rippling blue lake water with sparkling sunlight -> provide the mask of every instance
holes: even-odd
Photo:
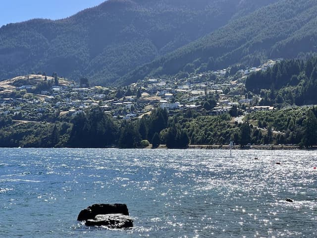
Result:
[[[0,149],[0,237],[316,238],[316,158],[315,151]],[[126,203],[134,228],[77,222],[94,203]]]

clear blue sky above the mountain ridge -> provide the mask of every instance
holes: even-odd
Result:
[[[0,27],[33,18],[60,19],[105,0],[0,0]]]

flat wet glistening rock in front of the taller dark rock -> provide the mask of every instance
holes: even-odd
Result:
[[[130,216],[122,214],[97,215],[94,219],[88,219],[86,226],[106,226],[111,229],[122,229],[133,227],[133,221]]]

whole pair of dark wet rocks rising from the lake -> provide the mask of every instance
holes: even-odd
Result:
[[[77,220],[85,221],[86,226],[115,229],[133,227],[133,220],[125,204],[94,204],[82,210]]]

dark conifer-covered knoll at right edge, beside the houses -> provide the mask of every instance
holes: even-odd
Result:
[[[248,76],[247,90],[260,94],[262,105],[317,104],[317,57],[304,60],[283,60],[266,71]]]

